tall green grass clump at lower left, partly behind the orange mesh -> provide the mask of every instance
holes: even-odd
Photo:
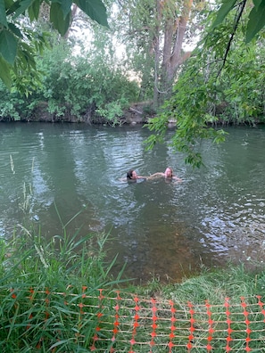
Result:
[[[94,298],[91,304],[99,288],[107,292],[118,285],[119,278],[113,281],[110,275],[115,260],[104,262],[106,238],[90,234],[80,239],[78,232],[69,236],[64,226],[62,235],[46,241],[19,226],[12,239],[1,241],[1,351],[48,352],[52,346],[87,351],[95,318],[92,312],[83,318],[71,306],[86,304],[85,291]]]

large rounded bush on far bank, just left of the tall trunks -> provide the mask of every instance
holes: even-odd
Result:
[[[53,53],[46,53],[45,60],[40,61],[46,78],[39,99],[54,103],[57,111],[62,107],[64,113],[67,110],[87,121],[95,119],[96,111],[106,111],[104,116],[112,123],[120,110],[137,98],[137,84],[104,57],[92,52],[85,57],[65,56],[66,50],[60,46],[54,47]]]

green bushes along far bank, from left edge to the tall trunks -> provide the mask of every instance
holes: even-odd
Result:
[[[74,56],[65,41],[54,38],[51,50],[37,59],[37,70],[43,77],[27,98],[17,92],[0,89],[2,119],[39,119],[37,107],[43,107],[54,120],[122,122],[121,115],[138,96],[136,82],[128,79],[119,66],[96,52]],[[12,109],[11,105],[12,104]]]

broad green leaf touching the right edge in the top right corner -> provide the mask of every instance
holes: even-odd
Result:
[[[254,6],[249,14],[247,22],[245,43],[249,43],[253,37],[265,26],[265,0],[259,6]]]

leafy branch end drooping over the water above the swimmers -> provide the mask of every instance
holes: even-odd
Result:
[[[175,150],[184,152],[186,163],[194,167],[200,167],[202,164],[202,156],[198,152],[200,139],[211,138],[220,143],[225,137],[223,130],[208,127],[210,122],[216,120],[207,110],[214,83],[205,82],[203,75],[198,74],[197,70],[198,66],[193,60],[178,78],[173,96],[162,107],[161,115],[150,121],[148,127],[155,134],[146,140],[148,148],[153,148],[153,144],[163,141],[169,121],[175,121],[177,128],[171,145]]]

